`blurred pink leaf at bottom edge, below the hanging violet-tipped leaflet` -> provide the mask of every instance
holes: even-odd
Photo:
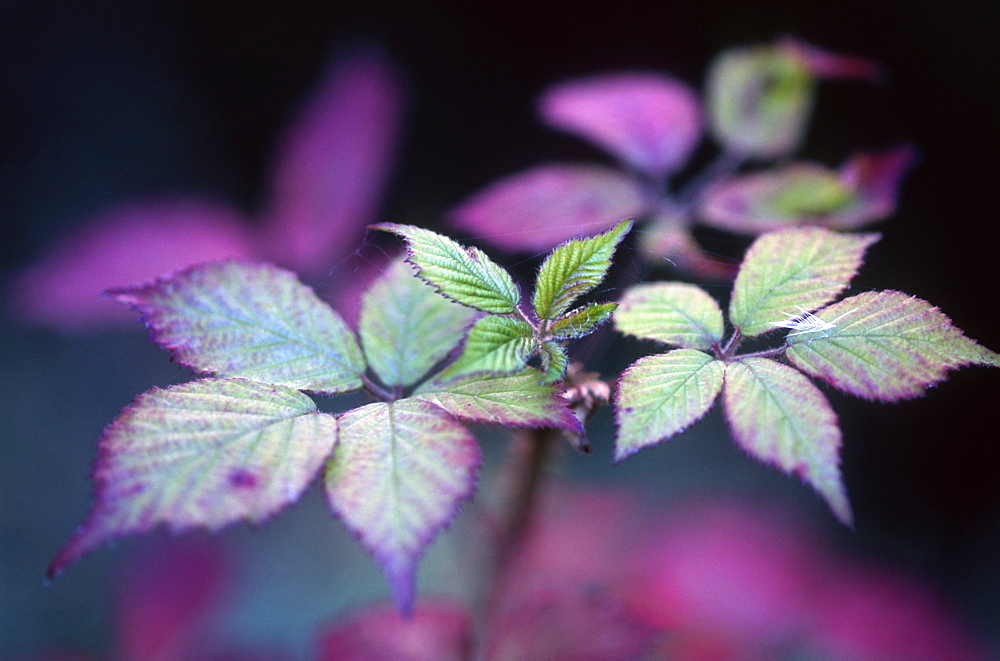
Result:
[[[472,623],[465,609],[441,599],[410,616],[375,606],[339,621],[319,642],[320,661],[463,661],[470,658]]]

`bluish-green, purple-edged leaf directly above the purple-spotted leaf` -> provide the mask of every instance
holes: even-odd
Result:
[[[213,262],[110,293],[199,372],[327,394],[361,387],[365,361],[354,334],[284,269]]]

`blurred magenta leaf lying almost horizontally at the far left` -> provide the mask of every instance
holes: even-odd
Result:
[[[147,282],[198,262],[246,258],[246,222],[219,203],[167,199],[102,212],[11,284],[14,314],[70,331],[121,326],[134,317],[101,292]]]

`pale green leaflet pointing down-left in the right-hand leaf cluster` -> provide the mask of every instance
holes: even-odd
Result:
[[[694,349],[646,356],[622,373],[615,391],[615,461],[697,422],[722,390],[725,363]]]

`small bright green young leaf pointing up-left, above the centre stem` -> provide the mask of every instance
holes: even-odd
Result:
[[[413,225],[379,223],[372,228],[406,239],[409,261],[420,270],[420,277],[463,305],[510,314],[521,301],[510,274],[478,248],[465,248],[446,236]]]

